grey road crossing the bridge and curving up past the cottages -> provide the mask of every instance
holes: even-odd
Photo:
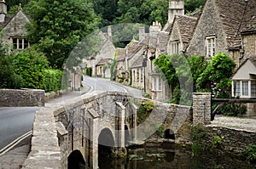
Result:
[[[141,96],[141,91],[135,88],[126,87],[119,83],[110,82],[107,79],[92,78],[84,76],[84,83],[87,86],[82,91],[74,91],[63,94],[61,98],[52,99],[47,104],[55,104],[78,97],[92,91],[118,91]],[[36,110],[40,107],[4,107],[0,108],[0,149],[13,142],[26,132],[32,130],[32,123]]]

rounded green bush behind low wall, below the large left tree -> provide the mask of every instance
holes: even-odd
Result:
[[[22,87],[44,89],[44,69],[48,62],[44,54],[30,48],[15,55],[15,73],[22,78]]]

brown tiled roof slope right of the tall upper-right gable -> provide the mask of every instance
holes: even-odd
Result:
[[[228,48],[241,46],[240,31],[255,30],[255,0],[215,0]]]

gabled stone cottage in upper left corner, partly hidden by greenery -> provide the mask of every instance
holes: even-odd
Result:
[[[30,44],[26,39],[26,24],[31,23],[29,17],[19,10],[14,15],[7,14],[7,4],[0,0],[0,27],[3,33],[3,42],[16,49],[24,49]]]

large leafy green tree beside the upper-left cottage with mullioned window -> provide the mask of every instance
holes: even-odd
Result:
[[[27,11],[32,19],[27,37],[54,68],[62,68],[77,43],[99,23],[91,3],[85,0],[32,0]]]

